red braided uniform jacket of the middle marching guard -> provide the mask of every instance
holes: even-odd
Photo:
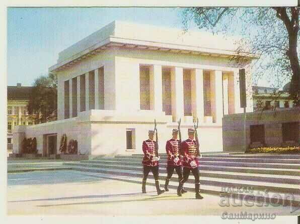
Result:
[[[170,139],[166,144],[166,152],[168,155],[168,165],[181,166],[182,160],[180,156],[180,141],[176,139]],[[179,161],[175,163],[174,159],[178,157]]]

